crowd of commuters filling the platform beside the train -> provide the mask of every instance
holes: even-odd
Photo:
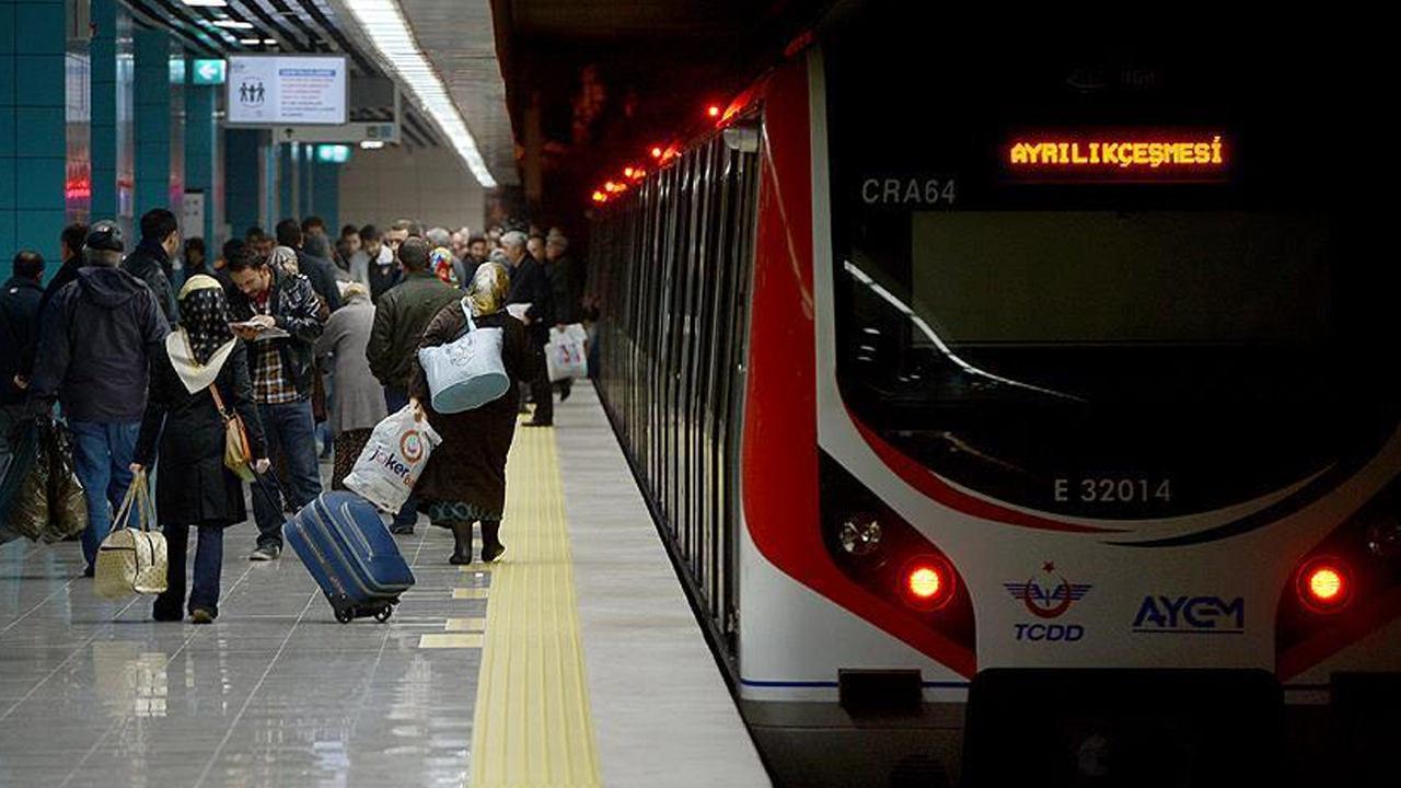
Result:
[[[552,327],[579,317],[579,276],[558,229],[472,233],[405,219],[382,231],[347,224],[332,240],[310,216],[272,234],[249,229],[210,257],[156,209],[134,247],[116,223],[97,222],[66,227],[57,248],[48,285],[42,254],[25,250],[0,292],[0,467],[25,419],[63,419],[87,498],[85,576],[133,478],[151,474],[170,550],[153,614],[213,621],[224,530],[248,519],[245,481],[255,487],[249,559],[276,561],[286,512],[322,492],[318,460],[332,460],[342,487],[373,428],[405,407],[443,443],[392,516],[394,533],[413,533],[425,513],[453,531],[450,561],[469,564],[481,523],[481,559],[504,552],[506,454],[527,400],[534,414],[520,423],[553,423],[544,348]],[[417,351],[461,337],[468,315],[503,330],[516,386],[481,408],[437,414]],[[224,464],[235,416],[251,481]]]

